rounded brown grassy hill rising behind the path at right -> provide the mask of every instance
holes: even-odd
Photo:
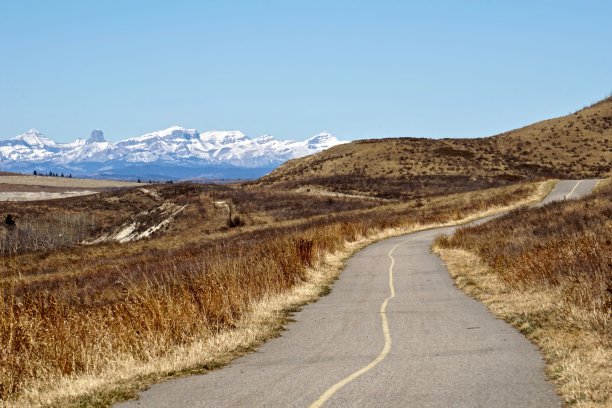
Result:
[[[611,162],[612,97],[493,137],[356,141],[291,160],[260,183],[399,198],[521,179],[602,177]]]

